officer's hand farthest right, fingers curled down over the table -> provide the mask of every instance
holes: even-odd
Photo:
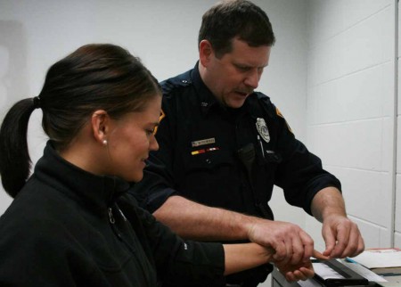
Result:
[[[329,258],[354,257],[364,250],[364,239],[358,226],[348,217],[331,214],[323,220],[324,256]]]

